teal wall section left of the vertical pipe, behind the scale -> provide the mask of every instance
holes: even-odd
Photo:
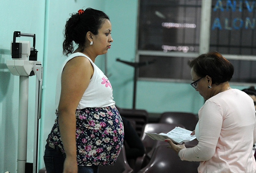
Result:
[[[18,137],[19,76],[7,69],[6,60],[11,59],[10,45],[14,31],[36,34],[38,60],[43,59],[44,49],[44,1],[22,2],[2,0],[0,2],[0,172],[16,172]],[[24,37],[26,38],[26,37]],[[17,38],[17,40],[22,40]],[[32,41],[30,38],[25,40]],[[28,115],[28,161],[33,160],[35,76],[29,79]]]

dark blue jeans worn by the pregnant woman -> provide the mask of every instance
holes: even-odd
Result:
[[[45,145],[44,165],[47,173],[62,173],[64,160],[65,157],[58,146],[51,148],[48,144]],[[98,173],[98,168],[96,165],[78,166],[78,173]]]

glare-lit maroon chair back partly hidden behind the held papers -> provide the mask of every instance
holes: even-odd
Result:
[[[165,124],[165,123],[148,123],[145,124],[144,128],[143,128],[143,134],[141,134],[141,140],[144,144],[144,147],[146,149],[146,153],[148,153],[149,151],[151,151],[151,149],[155,146],[156,144],[156,140],[152,139],[151,137],[149,137],[147,134],[145,134],[145,132],[147,133],[168,133],[169,131],[171,131],[172,129],[174,129],[175,127],[182,127],[184,128],[184,126],[182,124]]]

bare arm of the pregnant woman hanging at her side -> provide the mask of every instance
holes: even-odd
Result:
[[[75,111],[93,75],[93,66],[83,57],[66,63],[61,77],[58,107],[59,129],[66,154],[63,172],[77,172]]]

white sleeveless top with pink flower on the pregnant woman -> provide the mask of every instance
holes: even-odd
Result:
[[[104,73],[92,62],[92,60],[84,55],[83,53],[73,53],[71,54],[62,64],[61,69],[58,73],[57,83],[56,83],[56,95],[55,95],[55,108],[58,110],[60,92],[61,92],[61,75],[66,63],[76,57],[84,56],[91,62],[94,72],[90,83],[85,90],[79,104],[76,109],[84,109],[86,107],[107,107],[115,104],[113,100],[112,86],[108,78]],[[74,74],[75,75],[75,74]],[[82,81],[81,81],[82,82]]]

